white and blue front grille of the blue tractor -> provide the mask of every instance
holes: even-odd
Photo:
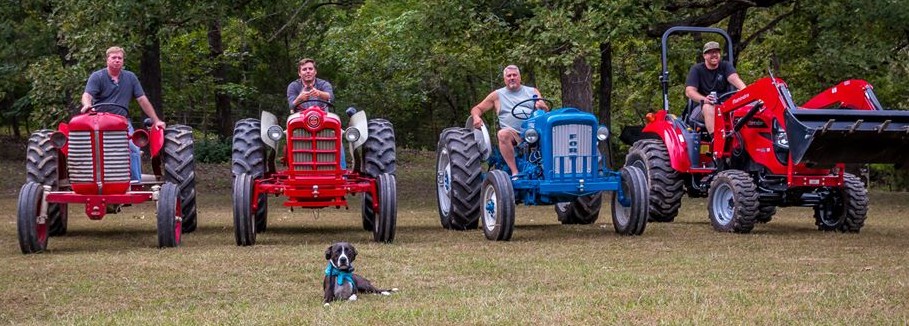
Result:
[[[593,127],[567,124],[552,127],[552,169],[554,177],[589,177],[596,169]]]

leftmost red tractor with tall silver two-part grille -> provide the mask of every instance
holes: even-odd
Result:
[[[95,107],[105,105],[122,107]],[[69,204],[85,204],[88,218],[101,220],[121,205],[155,201],[159,247],[176,247],[183,233],[196,229],[192,129],[174,125],[130,135],[128,126],[121,115],[91,111],[29,136],[17,213],[22,253],[44,251],[50,236],[66,234]],[[147,146],[154,176],[130,182],[130,142]]]

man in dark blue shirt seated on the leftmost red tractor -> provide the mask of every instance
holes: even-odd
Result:
[[[106,53],[107,68],[93,72],[85,84],[85,92],[82,93],[81,112],[88,112],[97,103],[116,103],[123,107],[100,105],[95,110],[122,115],[129,122],[129,112],[125,108],[129,107],[129,102],[135,98],[145,115],[151,118],[152,126],[156,129],[164,129],[166,124],[158,119],[158,115],[155,114],[155,108],[148,100],[148,97],[145,96],[145,91],[142,90],[142,85],[139,84],[136,74],[123,69],[123,49],[112,46],[107,49]],[[130,135],[133,134],[133,130],[133,124],[129,122]],[[130,142],[130,179],[133,181],[142,180],[142,163],[139,159],[139,147]]]

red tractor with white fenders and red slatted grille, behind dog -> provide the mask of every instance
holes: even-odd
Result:
[[[310,100],[304,103],[329,102]],[[395,135],[388,120],[366,119],[366,112],[347,109],[350,126],[341,131],[338,115],[319,105],[297,107],[287,129],[262,112],[262,119],[243,119],[234,128],[234,235],[238,246],[256,243],[268,226],[268,194],[285,196],[284,206],[347,207],[348,195],[363,193],[363,229],[377,242],[392,242],[397,219]],[[343,137],[342,137],[343,135]],[[278,141],[286,138],[286,144]],[[353,167],[346,168],[344,146]],[[282,146],[279,146],[282,145]],[[278,170],[275,153],[282,150]]]

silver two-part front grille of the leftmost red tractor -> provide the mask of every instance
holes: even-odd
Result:
[[[69,133],[69,179],[72,183],[129,181],[129,138],[126,131],[98,132],[101,143],[92,142],[91,131]],[[101,155],[96,159],[94,153]],[[96,171],[100,163],[104,171]],[[103,172],[103,173],[102,173]]]

